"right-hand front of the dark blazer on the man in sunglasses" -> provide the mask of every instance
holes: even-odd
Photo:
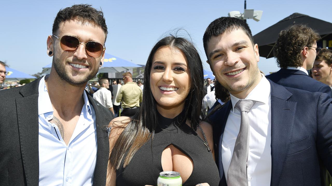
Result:
[[[96,132],[97,132],[97,160],[96,167],[93,176],[93,185],[105,185],[106,184],[106,172],[107,172],[107,163],[110,153],[110,146],[108,140],[107,126],[109,122],[113,119],[113,115],[110,114],[110,117],[107,118],[103,112],[103,107],[93,100],[93,98],[87,93],[89,103],[92,104],[93,109],[96,114]]]

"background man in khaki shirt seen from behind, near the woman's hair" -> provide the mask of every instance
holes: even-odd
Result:
[[[122,74],[124,85],[120,88],[119,94],[116,98],[117,102],[121,101],[123,111],[121,116],[133,116],[138,111],[139,103],[142,102],[142,89],[132,82],[132,75],[130,72]]]

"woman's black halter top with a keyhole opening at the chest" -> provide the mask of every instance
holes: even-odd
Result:
[[[193,160],[194,168],[183,186],[195,186],[208,183],[219,184],[218,168],[205,141],[185,123],[183,113],[173,119],[158,113],[158,126],[153,140],[147,141],[135,153],[130,163],[123,168],[123,162],[117,172],[117,186],[157,185],[159,173],[163,171],[161,155],[163,150],[173,144]],[[180,121],[180,122],[179,122]],[[182,122],[181,122],[182,121]]]

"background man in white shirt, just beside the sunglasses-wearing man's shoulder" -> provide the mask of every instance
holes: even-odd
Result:
[[[102,104],[105,108],[109,109],[113,115],[113,104],[112,104],[112,93],[108,89],[110,88],[110,83],[108,78],[102,77],[99,79],[100,88],[93,94],[93,99]]]

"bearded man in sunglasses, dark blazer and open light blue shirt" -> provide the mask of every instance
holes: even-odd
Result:
[[[107,33],[91,5],[60,10],[47,37],[50,74],[0,91],[0,185],[105,186],[113,114],[84,88]]]

